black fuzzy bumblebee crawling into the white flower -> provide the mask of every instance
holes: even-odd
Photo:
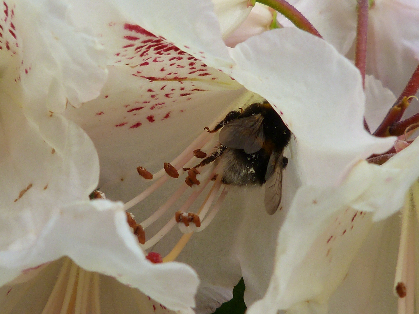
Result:
[[[288,163],[284,149],[291,131],[272,106],[253,103],[230,111],[210,133],[221,129],[215,152],[196,167],[221,163],[221,182],[229,185],[265,185],[265,208],[274,214],[281,203],[282,170]]]

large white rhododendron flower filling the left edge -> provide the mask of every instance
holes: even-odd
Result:
[[[103,46],[70,18],[69,7],[60,1],[3,3],[0,281],[24,280],[32,269],[67,255],[171,309],[190,309],[198,284],[194,270],[150,263],[122,203],[89,201],[98,183],[97,152],[62,113],[96,98],[108,70]],[[3,290],[2,308],[13,310],[19,293]],[[54,297],[62,294],[52,295],[52,303]]]

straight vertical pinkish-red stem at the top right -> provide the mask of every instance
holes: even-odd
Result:
[[[357,43],[355,66],[360,70],[365,88],[365,63],[367,61],[368,0],[358,0]]]

